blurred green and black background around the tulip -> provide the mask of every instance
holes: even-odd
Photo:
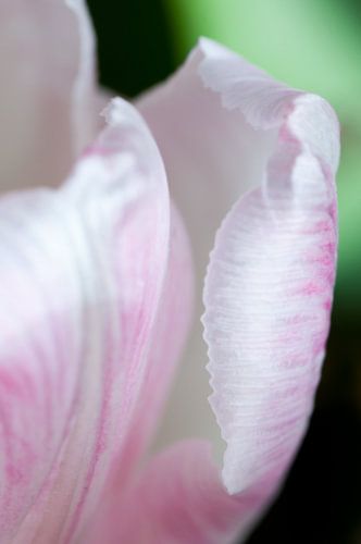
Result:
[[[307,440],[249,544],[361,544],[361,3],[359,0],[88,0],[100,79],[133,97],[199,35],[321,94],[341,122],[339,265],[328,355]]]

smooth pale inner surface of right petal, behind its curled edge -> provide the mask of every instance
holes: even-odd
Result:
[[[215,232],[237,198],[260,183],[276,145],[276,113],[262,116],[257,109],[257,104],[261,104],[262,111],[266,107],[264,97],[269,100],[270,82],[275,99],[279,99],[277,112],[282,116],[287,99],[291,100],[296,91],[270,81],[236,54],[202,39],[169,82],[140,97],[137,103],[161,149],[171,195],[191,239],[197,271],[197,317],[203,312],[201,293]],[[264,131],[260,129],[262,123]],[[215,443],[219,430],[207,400],[211,390],[206,364],[202,327],[197,319],[159,447],[189,435],[211,437]],[[223,443],[217,440],[219,458],[222,450]]]

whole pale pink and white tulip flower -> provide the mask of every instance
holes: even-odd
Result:
[[[320,379],[337,119],[208,39],[99,118],[80,0],[3,0],[0,24],[1,543],[245,539]],[[206,345],[220,431],[147,457]]]

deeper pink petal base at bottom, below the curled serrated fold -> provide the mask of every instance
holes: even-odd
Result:
[[[117,503],[117,517],[101,533],[107,544],[221,544],[238,542],[262,494],[229,496],[206,442],[163,452]],[[112,531],[112,532],[111,532]],[[91,544],[100,542],[86,540]]]

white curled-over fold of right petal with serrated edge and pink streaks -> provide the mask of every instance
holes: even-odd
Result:
[[[337,246],[333,165],[323,169],[329,154],[322,139],[312,145],[312,125],[335,135],[332,115],[320,127],[324,108],[318,98],[297,98],[263,184],[228,213],[210,259],[204,338],[231,493],[278,482],[313,407]]]

